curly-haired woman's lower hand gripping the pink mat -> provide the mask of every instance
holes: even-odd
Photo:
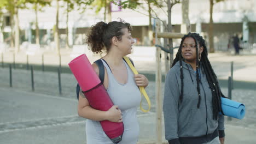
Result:
[[[113,105],[108,111],[106,111],[106,114],[107,120],[110,122],[123,122],[122,112],[120,109],[118,109],[117,105]]]

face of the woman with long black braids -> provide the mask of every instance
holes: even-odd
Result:
[[[197,44],[197,47],[200,45]],[[198,48],[198,53],[202,53],[203,47]],[[191,37],[184,39],[182,44],[182,57],[185,59],[185,62],[196,62],[196,43],[195,40]]]

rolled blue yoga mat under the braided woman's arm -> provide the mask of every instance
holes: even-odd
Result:
[[[245,105],[227,98],[222,99],[222,110],[225,116],[242,119],[245,117]]]

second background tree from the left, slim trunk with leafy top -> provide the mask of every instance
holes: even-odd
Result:
[[[43,11],[46,5],[50,5],[51,0],[27,0],[27,2],[33,4],[36,14],[36,44],[39,44],[38,11]]]

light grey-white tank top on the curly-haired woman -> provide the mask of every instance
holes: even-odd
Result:
[[[141,93],[136,86],[134,74],[123,60],[127,69],[127,82],[119,83],[115,79],[106,62],[102,60],[108,73],[108,89],[110,99],[114,105],[118,105],[123,114],[124,134],[120,144],[135,144],[138,140],[139,125],[136,116],[137,107],[141,101]],[[88,119],[86,121],[87,144],[112,144],[101,128],[100,122]]]

